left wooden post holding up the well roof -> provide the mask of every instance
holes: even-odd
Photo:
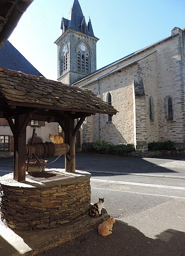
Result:
[[[14,121],[14,180],[26,180],[26,127],[28,114],[15,115]]]

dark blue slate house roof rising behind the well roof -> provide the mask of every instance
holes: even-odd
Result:
[[[42,76],[9,41],[6,41],[5,45],[0,49],[0,68],[20,71],[34,76]]]

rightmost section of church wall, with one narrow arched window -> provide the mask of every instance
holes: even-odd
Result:
[[[158,85],[159,141],[170,139],[185,143],[184,131],[184,66],[182,65],[184,41],[180,35],[157,47],[156,67]],[[167,99],[172,98],[173,120],[167,117]]]

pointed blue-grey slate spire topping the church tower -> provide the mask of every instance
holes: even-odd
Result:
[[[85,31],[83,33],[95,36],[92,30],[92,25],[89,19],[88,25],[86,25],[85,17],[83,15],[82,9],[78,0],[74,0],[73,6],[70,10],[68,18],[62,18],[61,29],[64,32],[66,29],[71,28],[76,31],[82,32],[82,26],[84,26]]]

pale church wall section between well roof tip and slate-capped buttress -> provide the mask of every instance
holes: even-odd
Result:
[[[95,142],[105,140],[113,144],[119,143],[134,143],[134,121],[133,121],[133,77],[137,78],[137,65],[132,65],[132,68],[123,69],[122,72],[117,72],[102,78],[98,82],[93,82],[86,86],[89,90],[99,95],[107,101],[108,92],[111,94],[112,105],[119,111],[112,117],[112,121],[108,121],[108,115],[95,115],[87,117],[91,119],[92,125],[86,127],[86,137],[93,134]],[[100,125],[100,126],[99,126]],[[91,137],[92,138],[92,137]]]

